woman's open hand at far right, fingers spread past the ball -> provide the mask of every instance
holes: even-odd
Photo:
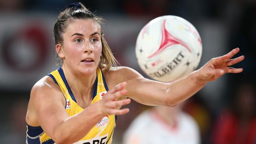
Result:
[[[238,52],[239,52],[239,48],[235,48],[226,55],[212,58],[210,61],[208,61],[208,63],[206,63],[199,70],[197,70],[196,76],[199,79],[199,81],[202,81],[202,82],[214,81],[226,73],[242,72],[243,68],[228,67],[236,63],[239,63],[240,61],[243,61],[243,59],[245,59],[245,56],[243,55],[235,59],[231,59]]]

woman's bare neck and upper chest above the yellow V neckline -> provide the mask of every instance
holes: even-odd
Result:
[[[83,100],[86,102],[87,100],[90,100],[96,79],[96,71],[91,75],[84,76],[72,72],[72,70],[64,65],[62,69],[76,101]]]

